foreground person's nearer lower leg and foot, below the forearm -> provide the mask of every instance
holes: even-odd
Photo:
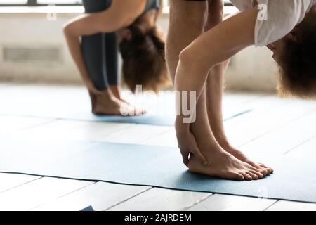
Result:
[[[192,155],[188,165],[191,172],[217,176],[223,179],[251,180],[263,178],[264,169],[257,169],[235,158],[216,141],[207,118],[206,91],[203,92],[197,102],[197,120],[190,128],[200,150],[209,162],[209,167],[204,167],[195,158],[195,155]]]

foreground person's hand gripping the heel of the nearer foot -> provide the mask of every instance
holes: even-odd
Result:
[[[195,141],[195,136],[190,131],[190,124],[184,124],[181,117],[176,120],[176,135],[178,139],[178,148],[183,158],[183,163],[187,166],[189,164],[190,153],[195,155],[204,167],[209,165],[206,157],[202,154]]]

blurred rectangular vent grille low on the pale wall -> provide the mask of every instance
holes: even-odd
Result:
[[[32,63],[47,62],[59,63],[61,61],[60,48],[58,47],[7,47],[3,48],[4,62]]]

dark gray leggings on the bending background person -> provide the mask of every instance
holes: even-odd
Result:
[[[112,0],[84,0],[86,13],[105,11]],[[117,37],[113,33],[99,33],[84,36],[81,40],[82,53],[88,74],[96,86],[103,91],[118,84]]]

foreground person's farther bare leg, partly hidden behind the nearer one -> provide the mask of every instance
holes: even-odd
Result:
[[[208,15],[205,25],[205,31],[211,29],[213,26],[221,22],[220,18],[223,15],[217,14],[220,11],[214,11],[214,8],[222,8],[220,1],[209,1],[208,4]],[[226,150],[228,153],[234,155],[237,159],[247,162],[250,165],[258,169],[267,169],[267,173],[273,172],[272,169],[266,167],[263,164],[255,163],[244,155],[241,151],[233,148],[225,135],[225,129],[223,124],[223,75],[225,74],[225,69],[227,68],[229,60],[224,63],[217,65],[211,70],[209,78],[206,81],[206,103],[207,103],[207,113],[209,117],[210,127],[216,138],[216,141],[220,146]]]

